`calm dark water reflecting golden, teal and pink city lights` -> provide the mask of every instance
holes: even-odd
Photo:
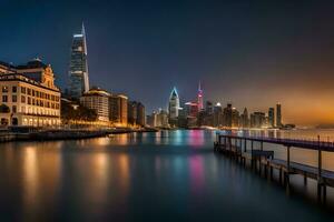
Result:
[[[215,154],[214,139],[169,131],[0,144],[0,221],[333,221],[312,201],[315,183],[296,176],[288,196]],[[294,155],[312,163],[312,153]]]

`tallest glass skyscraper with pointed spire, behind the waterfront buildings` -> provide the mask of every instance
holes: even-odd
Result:
[[[86,32],[82,23],[80,34],[73,34],[70,68],[69,68],[69,95],[79,99],[89,91],[88,62]]]

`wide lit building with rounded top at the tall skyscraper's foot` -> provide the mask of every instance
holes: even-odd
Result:
[[[91,88],[80,98],[80,103],[94,110],[97,114],[97,120],[109,121],[109,97],[110,93],[100,88]]]

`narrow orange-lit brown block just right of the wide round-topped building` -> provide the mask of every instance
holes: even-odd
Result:
[[[128,125],[128,98],[124,94],[109,97],[109,119],[117,127]]]

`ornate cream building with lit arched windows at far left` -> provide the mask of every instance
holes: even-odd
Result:
[[[36,59],[24,65],[1,62],[1,125],[58,127],[60,90],[51,65]]]

